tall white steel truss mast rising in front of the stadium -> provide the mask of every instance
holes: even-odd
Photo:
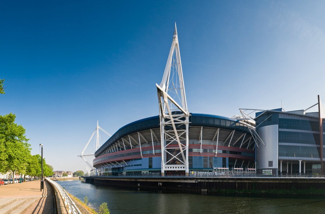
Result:
[[[165,171],[185,171],[188,175],[189,113],[176,23],[162,82],[156,86],[160,110],[162,176]],[[177,129],[176,126],[178,126]]]

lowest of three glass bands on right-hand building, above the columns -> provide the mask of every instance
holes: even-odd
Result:
[[[279,156],[319,158],[319,147],[279,145]]]

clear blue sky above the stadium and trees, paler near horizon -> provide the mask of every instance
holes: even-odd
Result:
[[[110,132],[158,115],[177,24],[188,109],[305,109],[325,102],[324,1],[6,1],[0,6],[0,114],[15,113],[54,170],[96,122]],[[102,134],[102,142],[107,137]],[[94,152],[93,142],[86,153]]]

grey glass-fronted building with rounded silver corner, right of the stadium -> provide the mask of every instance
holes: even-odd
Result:
[[[266,145],[257,149],[257,172],[324,173],[325,112],[319,96],[316,105],[318,112],[280,108],[256,113],[256,131]]]

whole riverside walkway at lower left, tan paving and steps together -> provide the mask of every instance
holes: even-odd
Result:
[[[54,213],[54,198],[51,184],[30,181],[21,184],[0,186],[0,213],[51,214]]]

